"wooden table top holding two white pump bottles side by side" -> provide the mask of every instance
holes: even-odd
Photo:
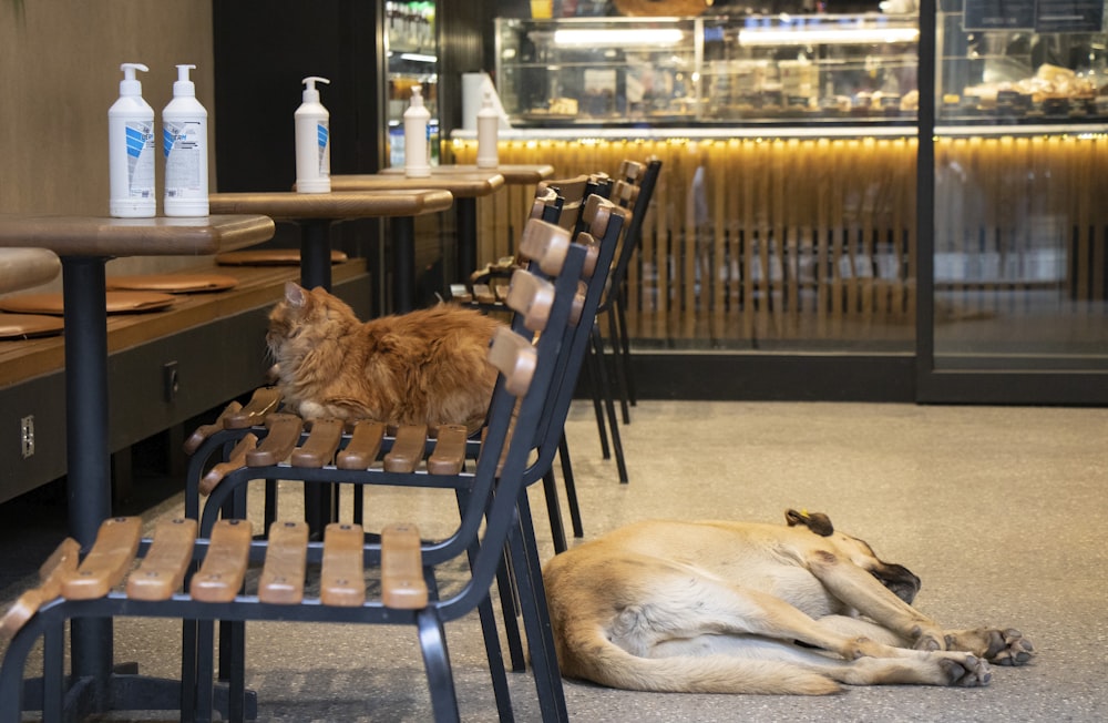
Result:
[[[193,256],[253,246],[273,237],[273,218],[0,215],[0,247],[34,246],[59,256]]]

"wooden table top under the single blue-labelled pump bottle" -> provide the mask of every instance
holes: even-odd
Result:
[[[450,191],[442,187],[429,189],[423,184],[340,190],[335,187],[334,176],[330,193],[252,191],[213,193],[208,196],[212,211],[264,213],[283,221],[418,216],[445,211],[453,203],[454,198]]]

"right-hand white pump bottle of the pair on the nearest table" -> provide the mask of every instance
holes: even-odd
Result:
[[[177,65],[173,100],[162,111],[162,145],[165,153],[167,216],[208,215],[207,111],[196,100],[189,69]]]

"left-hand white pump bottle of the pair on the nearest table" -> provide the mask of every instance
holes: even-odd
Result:
[[[157,213],[154,181],[154,109],[142,96],[135,71],[142,63],[123,63],[120,98],[107,111],[109,212],[123,218],[148,218]]]

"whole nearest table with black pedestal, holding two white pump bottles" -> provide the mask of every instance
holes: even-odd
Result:
[[[70,533],[88,550],[112,513],[107,440],[107,308],[105,266],[117,256],[212,255],[274,235],[266,216],[109,218],[0,215],[0,247],[33,246],[61,257],[65,324],[65,458]],[[78,719],[110,709],[151,707],[176,696],[178,681],[114,675],[112,621],[74,620],[72,692]],[[176,685],[176,688],[174,688]],[[150,688],[155,690],[152,692]],[[168,701],[167,701],[168,702]]]

